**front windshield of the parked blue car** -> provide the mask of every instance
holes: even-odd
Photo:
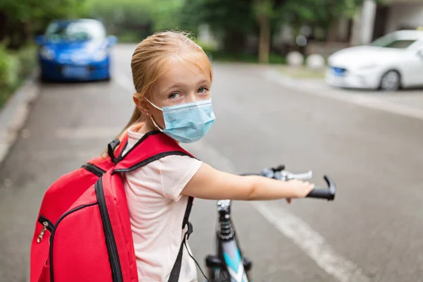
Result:
[[[45,37],[53,41],[87,41],[104,38],[101,23],[80,21],[71,23],[52,23],[47,27]]]

